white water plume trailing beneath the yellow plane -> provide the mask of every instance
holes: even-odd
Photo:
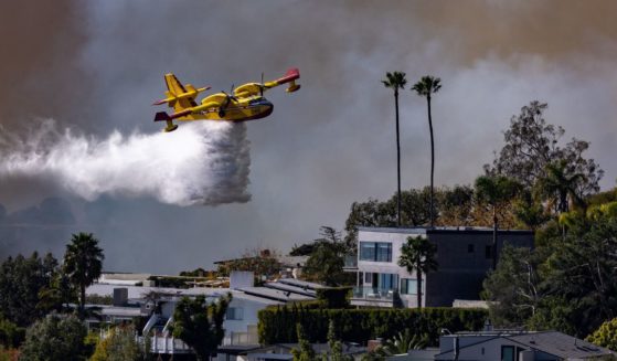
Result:
[[[51,179],[95,200],[150,195],[178,205],[247,202],[249,147],[244,124],[194,123],[173,132],[105,139],[58,131],[44,120],[26,137],[0,128],[0,180]]]

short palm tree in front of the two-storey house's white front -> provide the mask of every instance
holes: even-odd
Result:
[[[416,272],[417,308],[422,308],[422,274],[436,270],[435,245],[421,236],[407,237],[407,243],[401,248],[398,266],[405,267],[409,274]]]

